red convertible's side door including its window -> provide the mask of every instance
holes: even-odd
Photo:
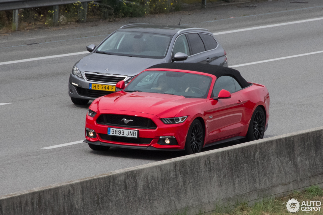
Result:
[[[231,92],[231,98],[223,98],[214,100],[211,98],[205,111],[207,131],[206,141],[208,143],[221,140],[223,138],[230,138],[239,136],[242,132],[243,124],[243,98],[236,92],[233,77],[222,76],[219,77],[213,89],[213,96],[217,97],[221,89]]]

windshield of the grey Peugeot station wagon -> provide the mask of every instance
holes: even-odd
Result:
[[[164,58],[171,37],[160,34],[117,31],[97,49],[98,53],[145,58]]]

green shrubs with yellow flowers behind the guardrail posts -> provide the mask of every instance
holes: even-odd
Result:
[[[207,0],[208,3],[229,0]],[[121,17],[143,17],[149,14],[169,13],[182,10],[183,4],[201,3],[201,0],[101,0],[89,2],[87,22],[114,22]],[[53,26],[53,6],[19,9],[18,30]],[[79,22],[82,3],[59,5],[59,25]],[[0,11],[0,31],[12,29],[13,10]]]

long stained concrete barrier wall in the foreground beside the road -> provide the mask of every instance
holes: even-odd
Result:
[[[323,127],[0,197],[1,215],[212,211],[323,183]]]

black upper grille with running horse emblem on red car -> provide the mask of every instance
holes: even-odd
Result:
[[[157,128],[156,124],[149,118],[119,114],[101,114],[97,119],[97,123],[101,125],[110,125],[125,128]]]

